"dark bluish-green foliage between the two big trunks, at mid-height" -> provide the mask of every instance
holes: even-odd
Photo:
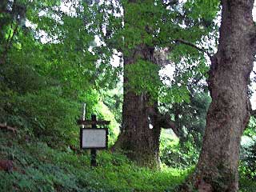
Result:
[[[205,90],[190,85],[188,87],[190,87],[187,94],[189,96],[188,102],[176,101],[167,104],[161,101],[159,109],[162,113],[170,114],[171,120],[174,121],[176,126],[175,134],[177,134],[181,145],[186,141],[191,141],[194,143],[194,147],[200,149],[211,98]]]

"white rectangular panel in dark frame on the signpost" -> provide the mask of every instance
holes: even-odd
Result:
[[[106,148],[106,129],[81,129],[81,147],[83,149]]]

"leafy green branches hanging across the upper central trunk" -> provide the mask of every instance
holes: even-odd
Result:
[[[130,68],[130,74],[127,75],[131,79],[129,86],[138,94],[146,90],[153,94],[154,98],[160,96],[163,102],[188,102],[187,82],[197,74],[205,76],[208,67],[202,53],[176,40],[183,39],[196,45],[202,40],[214,40],[217,37],[218,25],[214,18],[219,10],[218,5],[217,0],[170,3],[126,0],[91,2],[88,10],[93,13],[97,10],[98,14],[86,15],[86,27],[102,41],[99,47],[95,47],[98,53],[104,53],[102,60],[112,57],[116,50],[122,52],[125,58],[129,58],[143,46],[153,50],[170,47],[170,60],[175,63],[177,69],[186,70],[175,73],[186,74],[186,77],[180,75],[182,78],[177,80],[181,86],[163,86],[158,77],[160,67],[143,65],[142,62],[146,61],[136,61],[138,58],[134,58],[132,65],[127,67]],[[181,67],[183,64],[186,66]]]

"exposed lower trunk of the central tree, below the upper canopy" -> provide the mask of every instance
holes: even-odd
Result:
[[[123,150],[128,158],[140,166],[159,166],[158,102],[150,94],[136,94],[130,90],[127,67],[138,59],[152,62],[154,48],[138,46],[134,54],[124,58],[124,100],[122,130],[114,149]],[[158,73],[158,71],[156,71]],[[152,127],[153,126],[153,127]]]

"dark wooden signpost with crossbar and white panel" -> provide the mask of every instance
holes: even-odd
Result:
[[[80,129],[80,147],[81,149],[90,150],[90,166],[97,166],[96,156],[97,150],[107,149],[108,130],[107,128],[97,128],[99,126],[109,125],[109,121],[98,120],[96,115],[91,115],[91,120],[78,120],[78,124],[82,126],[91,126],[91,128]]]

